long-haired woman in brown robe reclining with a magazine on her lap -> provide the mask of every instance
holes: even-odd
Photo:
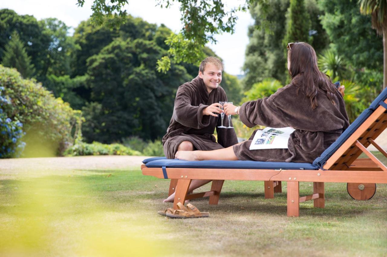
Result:
[[[175,157],[192,161],[313,162],[348,127],[344,100],[329,77],[319,71],[316,52],[309,44],[288,44],[288,69],[291,83],[270,97],[243,103],[241,107],[224,105],[226,115],[240,115],[248,127],[295,128],[288,149],[249,150],[253,134],[250,140],[225,149],[178,151]]]

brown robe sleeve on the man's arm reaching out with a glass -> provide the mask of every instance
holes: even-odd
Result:
[[[185,127],[200,129],[210,124],[210,115],[203,115],[202,113],[208,105],[193,106],[191,104],[195,97],[194,93],[186,86],[179,87],[176,93],[173,117]]]

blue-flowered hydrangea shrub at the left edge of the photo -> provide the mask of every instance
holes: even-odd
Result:
[[[21,141],[23,124],[19,120],[11,120],[3,111],[9,105],[10,98],[3,96],[5,88],[0,86],[0,158],[18,157],[26,143]]]

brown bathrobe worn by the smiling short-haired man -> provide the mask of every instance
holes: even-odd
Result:
[[[219,101],[227,101],[223,88],[218,86],[208,93],[199,76],[179,86],[171,122],[163,137],[164,153],[168,159],[175,159],[177,148],[183,141],[190,141],[194,150],[216,150],[238,143],[233,128],[218,128],[220,115],[202,114],[204,108]],[[223,124],[228,126],[227,115],[224,115]],[[217,142],[213,135],[215,128]]]

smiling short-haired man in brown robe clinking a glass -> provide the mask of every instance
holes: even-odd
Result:
[[[199,75],[179,86],[173,115],[167,133],[163,137],[164,153],[175,159],[177,151],[216,150],[238,143],[235,130],[218,128],[221,125],[222,105],[227,101],[226,92],[219,86],[222,81],[223,64],[216,57],[205,58],[199,66]],[[227,117],[224,118],[228,125]],[[217,131],[217,142],[214,129]],[[188,191],[209,183],[211,180],[194,179]],[[171,202],[175,193],[164,202]]]

